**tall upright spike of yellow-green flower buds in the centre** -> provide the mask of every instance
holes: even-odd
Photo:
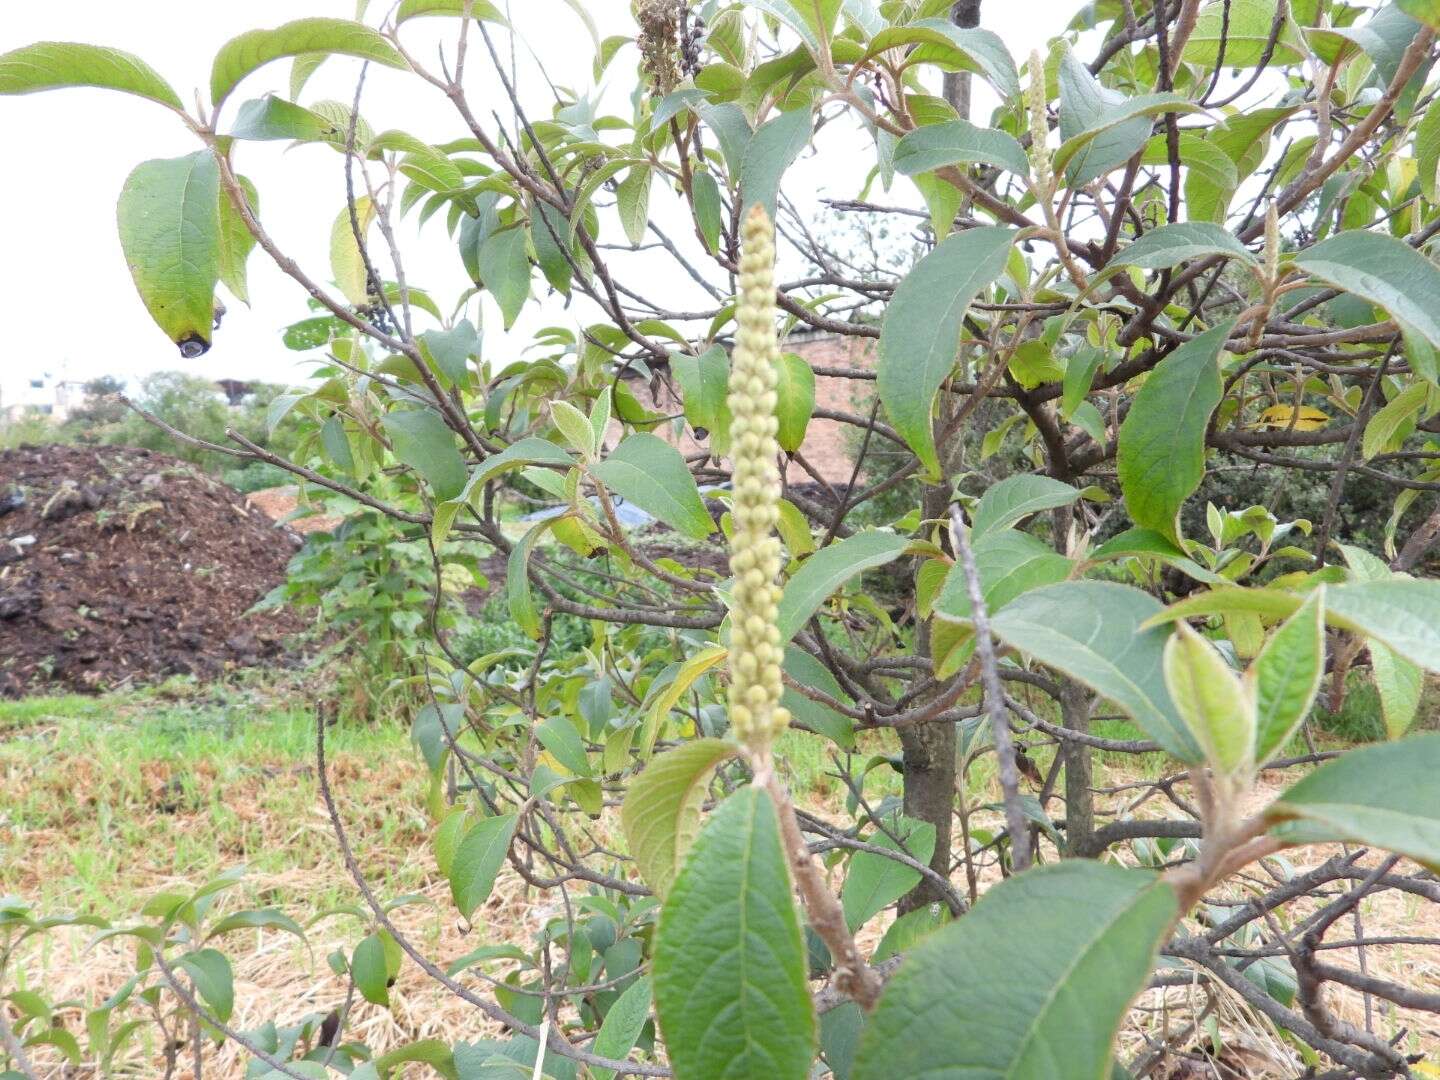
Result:
[[[730,572],[730,726],[763,752],[789,724],[780,707],[780,520],[779,444],[775,432],[775,226],[750,207],[740,232],[739,307],[730,357],[730,426],[734,492]]]

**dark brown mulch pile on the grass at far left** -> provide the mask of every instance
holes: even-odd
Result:
[[[0,697],[213,677],[278,657],[246,616],[298,537],[183,461],[122,446],[0,451]]]

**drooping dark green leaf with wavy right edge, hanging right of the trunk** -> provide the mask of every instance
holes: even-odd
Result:
[[[1233,323],[1161,360],[1120,425],[1116,465],[1130,518],[1179,543],[1179,508],[1205,477],[1205,428],[1220,405],[1220,351]]]

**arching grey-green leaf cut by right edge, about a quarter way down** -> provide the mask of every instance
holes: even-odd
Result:
[[[1440,269],[1404,240],[1352,229],[1295,256],[1310,276],[1368,300],[1440,347]]]

